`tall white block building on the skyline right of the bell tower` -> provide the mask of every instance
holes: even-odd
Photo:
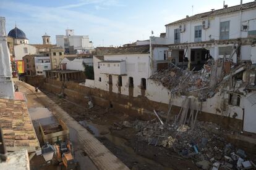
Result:
[[[93,42],[89,36],[75,35],[74,30],[66,30],[66,35],[56,35],[56,44],[63,47],[66,53],[74,54],[79,52],[90,52],[93,50]]]

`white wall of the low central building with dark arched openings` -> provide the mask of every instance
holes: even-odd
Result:
[[[129,77],[134,80],[134,97],[141,95],[141,81],[142,78],[147,79],[149,76],[149,54],[119,54],[119,55],[105,55],[105,60],[124,60],[126,63],[126,75],[122,75],[122,86],[118,86],[118,75],[112,75],[112,91],[118,93],[119,88],[121,94],[129,95]],[[103,74],[98,68],[98,62],[101,60],[93,57],[93,68],[95,73],[95,87],[109,91],[109,77],[108,74]],[[101,81],[100,81],[101,79]]]

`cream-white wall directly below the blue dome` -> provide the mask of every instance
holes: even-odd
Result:
[[[27,50],[25,50],[27,48]],[[29,44],[19,44],[14,46],[15,60],[22,60],[25,55],[36,54],[36,47]]]

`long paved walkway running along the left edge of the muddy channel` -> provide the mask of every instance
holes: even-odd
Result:
[[[19,81],[19,86],[29,89],[29,94],[34,94],[38,102],[52,111],[53,115],[61,118],[69,127],[77,132],[80,144],[83,144],[83,150],[93,161],[98,169],[129,169],[122,163],[108,148],[101,144],[90,132],[75,121],[66,111],[62,110],[53,100],[49,99],[43,92],[35,93],[35,87],[30,84]]]

